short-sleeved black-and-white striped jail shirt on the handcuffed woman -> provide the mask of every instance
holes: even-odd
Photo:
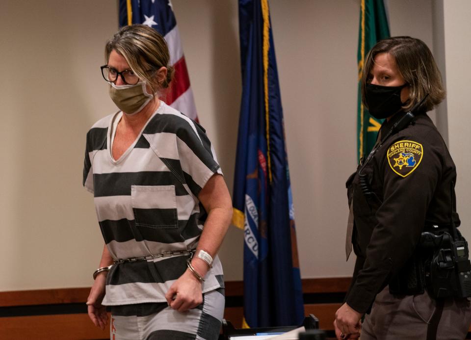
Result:
[[[101,119],[88,131],[83,169],[83,185],[94,194],[111,256],[194,249],[206,216],[198,194],[212,175],[222,174],[205,130],[161,102],[131,147],[113,159],[112,127],[121,114]],[[186,258],[115,264],[103,304],[164,302],[165,292],[186,269]],[[203,292],[223,287],[221,278],[216,257]]]

